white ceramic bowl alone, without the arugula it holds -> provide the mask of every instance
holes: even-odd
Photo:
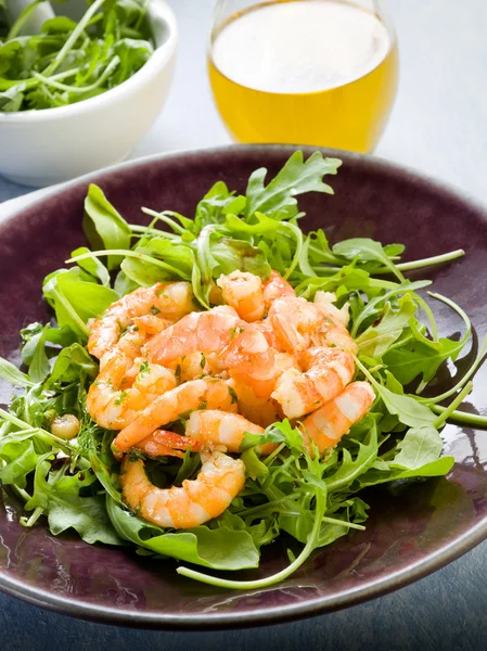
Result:
[[[178,29],[165,0],[149,7],[156,49],[133,77],[68,106],[0,112],[0,175],[51,186],[126,158],[159,114],[172,79]]]

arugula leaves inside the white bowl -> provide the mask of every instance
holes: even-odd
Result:
[[[41,1],[28,4],[10,28],[0,13],[0,111],[87,100],[126,81],[154,50],[150,0],[94,0],[78,23],[57,15],[40,34],[24,34]]]

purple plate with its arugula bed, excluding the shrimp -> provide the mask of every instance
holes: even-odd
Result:
[[[1,224],[0,589],[112,623],[240,627],[376,597],[480,542],[486,254],[485,208],[377,158],[284,145],[124,163]],[[322,458],[294,421],[266,430],[267,458],[247,435],[225,513],[162,528],[127,508],[116,432],[84,411],[90,319],[156,281],[191,283],[204,310],[245,268],[348,303],[376,399]],[[52,432],[65,412],[77,442]],[[153,460],[151,476],[177,485],[194,459]]]

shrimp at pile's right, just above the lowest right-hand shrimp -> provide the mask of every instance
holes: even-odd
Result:
[[[304,372],[284,371],[272,393],[287,418],[299,418],[332,400],[351,382],[355,371],[354,357],[339,348],[308,348],[299,362]]]

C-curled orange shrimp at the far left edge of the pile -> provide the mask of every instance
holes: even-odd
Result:
[[[133,384],[130,373],[134,363],[121,353],[106,359],[87,395],[87,409],[92,419],[106,430],[121,430],[138,412],[158,396],[176,386],[174,371],[143,362]]]

